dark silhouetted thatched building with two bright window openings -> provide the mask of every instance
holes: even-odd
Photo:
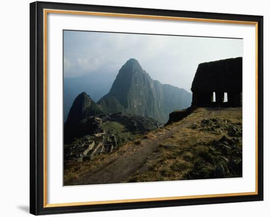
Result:
[[[191,105],[242,107],[242,72],[242,57],[200,63],[191,86]]]

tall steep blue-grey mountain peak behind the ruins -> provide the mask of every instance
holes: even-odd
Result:
[[[106,112],[122,111],[166,123],[171,111],[190,106],[191,93],[154,81],[132,58],[119,70],[110,91],[98,104]]]

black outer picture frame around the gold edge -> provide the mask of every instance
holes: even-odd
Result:
[[[98,205],[46,207],[44,200],[44,9],[183,17],[257,23],[257,194]],[[30,213],[33,215],[263,200],[263,16],[57,2],[30,3]]]

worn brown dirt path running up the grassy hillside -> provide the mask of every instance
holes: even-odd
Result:
[[[148,138],[141,139],[140,144],[133,142],[121,147],[115,154],[109,156],[107,163],[96,171],[86,173],[75,180],[72,185],[123,183],[141,168],[149,156],[155,152],[160,143],[177,133],[181,128],[192,123],[163,128],[155,134],[148,134]]]

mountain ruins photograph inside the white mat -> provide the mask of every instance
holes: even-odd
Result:
[[[243,38],[63,29],[62,64],[63,186],[243,177]]]

